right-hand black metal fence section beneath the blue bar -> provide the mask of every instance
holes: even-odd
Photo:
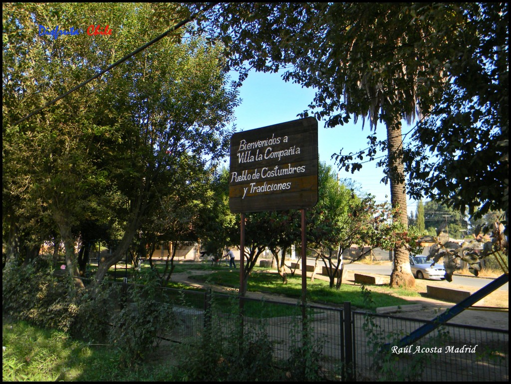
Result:
[[[508,381],[509,331],[446,324],[400,346],[432,322],[352,313],[358,380]]]

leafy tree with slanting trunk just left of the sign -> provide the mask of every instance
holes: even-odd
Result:
[[[224,87],[218,51],[196,40],[162,44],[158,55],[147,52],[128,63],[126,89],[117,99],[118,108],[126,111],[123,123],[133,132],[127,139],[137,144],[126,154],[133,164],[131,174],[119,175],[122,193],[130,201],[130,221],[112,259],[100,266],[98,279],[122,257],[140,219],[158,204],[157,193],[160,199],[167,194],[173,175],[193,177],[206,166],[204,156],[214,161],[227,148],[226,116],[236,102],[235,93]]]

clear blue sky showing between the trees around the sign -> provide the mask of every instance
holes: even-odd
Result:
[[[286,83],[278,74],[251,72],[240,89],[241,105],[236,110],[238,131],[245,131],[273,124],[294,120],[297,114],[307,109],[314,98],[314,89],[302,88],[293,83]],[[324,128],[318,122],[318,151],[322,162],[335,166],[331,156],[343,148],[343,154],[357,152],[367,147],[369,124],[362,130],[362,122],[350,122],[336,128]],[[378,137],[384,139],[385,127],[378,126]],[[362,170],[352,174],[344,169],[338,170],[339,178],[351,178],[361,185],[362,190],[376,197],[378,203],[390,201],[390,188],[380,183],[383,170],[376,166],[376,161],[364,163]],[[416,202],[408,201],[408,212],[416,210]]]

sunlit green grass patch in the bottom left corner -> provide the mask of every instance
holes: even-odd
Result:
[[[173,368],[150,364],[119,368],[110,346],[72,340],[3,316],[3,381],[173,381]]]

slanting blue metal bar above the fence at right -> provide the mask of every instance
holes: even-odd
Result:
[[[442,315],[437,316],[432,321],[433,323],[424,324],[423,326],[415,329],[408,336],[401,339],[399,342],[399,347],[404,347],[414,343],[415,341],[421,339],[429,332],[438,328],[440,325],[445,324],[449,320],[451,320],[454,316],[460,314],[465,309],[469,308],[473,304],[477,303],[482,298],[488,296],[493,291],[499,289],[502,285],[509,281],[508,275],[502,275],[492,282],[483,286],[479,291],[473,293],[466,299],[463,299],[458,304],[454,305],[452,308],[447,309]],[[390,344],[386,344],[386,346],[390,346]]]

